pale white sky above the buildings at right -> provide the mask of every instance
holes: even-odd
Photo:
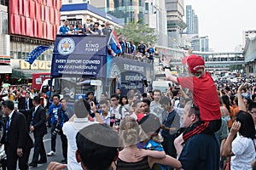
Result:
[[[192,5],[199,36],[208,36],[214,51],[234,51],[242,44],[242,31],[256,30],[256,0],[184,0],[184,5]]]

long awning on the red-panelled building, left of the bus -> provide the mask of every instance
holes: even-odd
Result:
[[[24,69],[13,69],[11,78],[22,78],[22,79],[32,79],[33,73],[45,73],[50,72],[49,70],[24,70]]]

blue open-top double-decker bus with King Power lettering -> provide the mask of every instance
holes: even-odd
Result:
[[[85,98],[94,92],[97,99],[102,93],[113,94],[120,88],[123,95],[131,88],[141,93],[145,80],[154,79],[154,65],[128,54],[112,56],[111,37],[95,35],[57,35],[51,65],[51,94],[61,94],[70,102]],[[49,83],[52,84],[52,83]]]

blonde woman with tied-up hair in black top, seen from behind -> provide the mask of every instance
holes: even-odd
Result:
[[[165,156],[158,150],[140,150],[137,148],[137,139],[139,139],[140,127],[137,121],[126,116],[120,123],[120,137],[123,140],[124,149],[119,152],[116,169],[119,170],[149,170],[155,163],[181,168],[180,161]]]

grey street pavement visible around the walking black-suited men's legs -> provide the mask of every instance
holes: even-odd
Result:
[[[50,151],[50,128],[47,127],[48,133],[46,135],[44,135],[44,147],[46,150],[46,154]],[[32,139],[34,139],[33,134],[31,134]],[[29,161],[28,163],[30,163],[32,161],[32,156],[34,153],[34,149],[32,148],[31,152],[30,152],[30,156],[29,156]],[[46,167],[49,165],[50,161],[57,161],[57,162],[61,162],[61,160],[63,160],[63,156],[62,156],[62,147],[61,147],[61,136],[59,134],[57,134],[57,139],[56,139],[56,152],[55,152],[55,156],[47,156],[47,163],[44,164],[38,164],[38,167],[30,167],[30,169],[32,170],[45,170]]]

